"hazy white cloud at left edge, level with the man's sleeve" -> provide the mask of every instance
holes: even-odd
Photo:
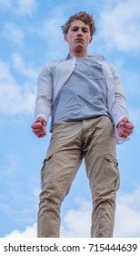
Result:
[[[27,67],[18,55],[14,56],[14,65],[24,75],[19,82],[15,80],[9,65],[0,61],[0,112],[3,114],[33,113],[38,70],[35,73],[34,68]]]

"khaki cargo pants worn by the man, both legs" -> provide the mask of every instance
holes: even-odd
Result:
[[[41,171],[38,237],[59,237],[61,204],[83,158],[93,198],[91,237],[113,237],[120,178],[114,127],[107,116],[55,124]]]

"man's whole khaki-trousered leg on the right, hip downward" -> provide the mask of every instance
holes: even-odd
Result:
[[[93,197],[91,237],[113,237],[115,196],[120,182],[113,124],[109,118],[100,117],[88,133],[85,165]]]

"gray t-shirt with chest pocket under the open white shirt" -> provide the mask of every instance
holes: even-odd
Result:
[[[76,59],[75,70],[59,91],[53,109],[50,131],[58,120],[75,121],[109,116],[104,71],[95,59]]]

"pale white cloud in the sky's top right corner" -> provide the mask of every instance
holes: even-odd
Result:
[[[108,1],[105,3],[108,3]],[[110,4],[109,4],[110,3]],[[100,15],[100,34],[109,48],[124,51],[140,49],[140,8],[138,0],[104,5]]]

